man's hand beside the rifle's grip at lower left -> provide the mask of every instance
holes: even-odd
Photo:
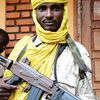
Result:
[[[12,91],[17,89],[18,87],[15,85],[9,85],[6,82],[9,78],[1,78],[0,79],[0,100],[8,100]]]

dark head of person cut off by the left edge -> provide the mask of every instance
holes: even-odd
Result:
[[[0,53],[2,53],[9,42],[9,36],[6,31],[0,29]]]

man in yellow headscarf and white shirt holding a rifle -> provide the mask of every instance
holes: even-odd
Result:
[[[58,81],[65,89],[79,96],[83,100],[94,100],[86,79],[80,79],[79,66],[75,63],[72,51],[66,44],[68,34],[67,0],[31,0],[33,19],[36,25],[36,36],[22,38],[9,56],[14,62],[27,58],[30,66],[52,80]],[[57,58],[56,75],[54,77],[54,60],[60,44],[66,44],[65,49]],[[75,42],[86,65],[91,68],[90,58],[86,49]],[[26,46],[26,50],[23,50]],[[23,52],[23,54],[22,54]],[[10,71],[5,76],[11,76]],[[91,83],[91,73],[87,72]],[[29,93],[27,83],[21,82],[18,86],[0,82],[0,98],[2,100],[26,100]],[[47,94],[41,97],[46,100]],[[67,99],[67,98],[66,98]]]

